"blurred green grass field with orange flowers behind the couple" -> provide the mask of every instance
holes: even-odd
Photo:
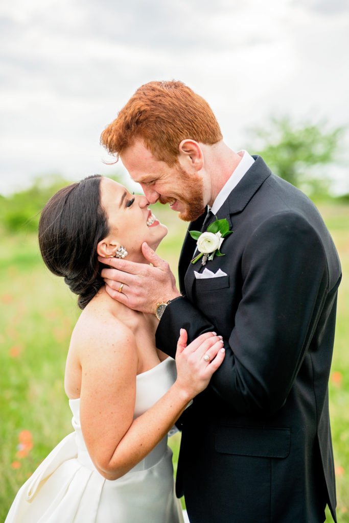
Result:
[[[330,408],[337,517],[344,523],[349,522],[349,207],[323,204],[321,212],[343,268]],[[155,213],[169,229],[158,254],[176,274],[186,225],[171,211],[161,208]],[[0,281],[0,521],[4,521],[19,486],[72,431],[63,376],[70,335],[80,311],[63,281],[43,266],[36,236],[24,230],[1,234]],[[175,460],[178,442],[178,435],[170,441]]]

